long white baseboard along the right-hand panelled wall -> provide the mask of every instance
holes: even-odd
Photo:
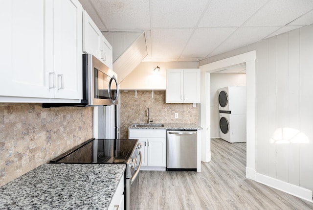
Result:
[[[247,169],[246,169],[247,170]],[[247,177],[248,178],[248,177]],[[287,192],[291,195],[304,199],[306,201],[310,201],[313,203],[313,192],[312,190],[299,187],[296,185],[292,185],[290,183],[263,175],[259,173],[255,173],[255,181],[267,185],[269,187],[273,187],[283,192]]]

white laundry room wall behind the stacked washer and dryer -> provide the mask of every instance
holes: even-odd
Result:
[[[211,73],[211,138],[220,137],[218,89],[227,86],[245,86],[245,73]]]

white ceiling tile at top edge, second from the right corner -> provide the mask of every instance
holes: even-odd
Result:
[[[212,0],[199,27],[240,26],[268,0]]]

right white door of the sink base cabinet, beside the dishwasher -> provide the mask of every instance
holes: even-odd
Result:
[[[148,166],[166,167],[165,138],[149,138],[147,153],[148,153]]]

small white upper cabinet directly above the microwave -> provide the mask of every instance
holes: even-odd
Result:
[[[112,46],[86,11],[84,11],[83,20],[83,51],[94,55],[112,69]]]

